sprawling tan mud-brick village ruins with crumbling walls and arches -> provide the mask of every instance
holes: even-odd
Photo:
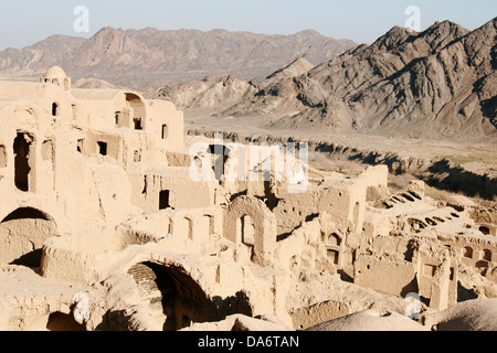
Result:
[[[298,147],[189,137],[172,103],[61,67],[1,82],[0,121],[0,330],[306,330],[372,309],[432,330],[465,292],[497,297],[495,222],[422,181],[392,193],[385,165],[350,178]]]

